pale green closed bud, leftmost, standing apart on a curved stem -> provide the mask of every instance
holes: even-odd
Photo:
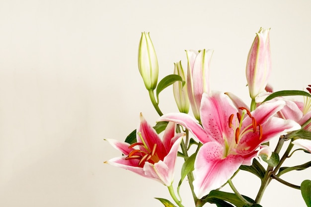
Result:
[[[157,84],[158,64],[156,51],[149,32],[142,32],[138,48],[138,69],[148,90],[154,90]]]

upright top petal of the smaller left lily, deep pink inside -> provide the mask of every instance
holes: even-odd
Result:
[[[148,124],[142,114],[140,117],[141,123],[137,129],[137,141],[143,143],[139,135],[139,133],[141,133],[142,138],[150,150],[152,150],[156,144],[156,151],[158,152],[158,156],[160,159],[163,159],[168,152],[166,152],[162,140],[156,134],[156,130]]]

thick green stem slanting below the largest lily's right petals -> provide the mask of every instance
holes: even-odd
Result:
[[[285,140],[284,140],[283,137],[281,137],[279,139],[279,141],[278,141],[278,143],[277,143],[277,145],[275,147],[275,150],[274,150],[276,153],[278,153],[278,154],[280,153],[281,148],[282,148],[282,146],[284,144],[284,141]],[[261,182],[261,186],[260,186],[260,189],[258,191],[257,197],[255,199],[255,203],[256,204],[260,203],[260,201],[262,199],[262,196],[263,196],[263,193],[264,193],[264,191],[266,190],[267,186],[269,185],[269,183],[271,181],[272,170],[273,170],[273,167],[268,165],[266,173],[265,173],[265,176],[263,177],[263,180]]]

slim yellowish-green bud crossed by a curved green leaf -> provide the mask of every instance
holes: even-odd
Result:
[[[174,63],[174,74],[180,75],[183,81],[185,81],[185,73],[181,66],[181,61],[178,63]],[[173,92],[174,98],[181,113],[188,113],[189,112],[189,98],[187,93],[187,83],[182,85],[181,81],[176,81],[173,83]]]

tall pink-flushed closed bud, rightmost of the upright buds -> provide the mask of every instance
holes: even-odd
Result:
[[[271,73],[269,32],[270,29],[259,29],[247,57],[246,79],[253,100],[265,90]]]

